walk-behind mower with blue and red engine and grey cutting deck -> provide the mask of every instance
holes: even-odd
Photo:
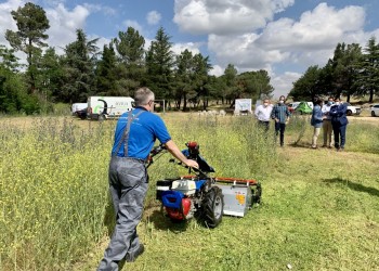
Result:
[[[215,228],[223,215],[244,217],[253,204],[260,203],[262,189],[259,182],[210,177],[214,169],[200,156],[199,145],[193,141],[185,145],[187,149],[182,153],[196,160],[199,168],[188,168],[188,176],[157,181],[156,198],[172,221],[196,217],[206,227]],[[154,156],[165,151],[164,145],[154,147],[147,167],[153,164]],[[170,162],[175,163],[174,159]]]

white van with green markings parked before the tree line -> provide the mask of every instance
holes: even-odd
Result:
[[[87,101],[87,118],[104,120],[118,118],[131,111],[134,99],[130,96],[89,96]]]

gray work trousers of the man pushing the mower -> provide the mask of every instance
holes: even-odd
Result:
[[[127,253],[133,254],[139,248],[136,225],[142,218],[147,186],[144,162],[112,157],[109,191],[116,212],[116,227],[97,270],[118,270],[118,262]]]

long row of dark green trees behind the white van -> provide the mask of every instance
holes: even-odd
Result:
[[[49,112],[54,103],[86,102],[90,95],[132,95],[142,86],[178,109],[190,103],[207,108],[210,100],[232,104],[238,98],[270,96],[266,70],[238,74],[228,64],[222,76],[209,75],[209,56],[188,50],[174,54],[171,37],[160,27],[147,50],[133,27],[119,31],[102,50],[77,29],[63,54],[47,43],[50,22],[44,10],[26,3],[11,15],[17,30],[8,29],[10,48],[0,46],[0,112]],[[15,52],[26,55],[26,64]]]

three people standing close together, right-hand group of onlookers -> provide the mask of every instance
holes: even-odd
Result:
[[[347,105],[341,103],[339,98],[334,100],[330,96],[324,105],[322,100],[316,101],[311,118],[311,125],[314,127],[312,149],[317,149],[317,138],[323,127],[323,147],[332,149],[335,146],[337,151],[344,150],[349,124],[347,112]]]

